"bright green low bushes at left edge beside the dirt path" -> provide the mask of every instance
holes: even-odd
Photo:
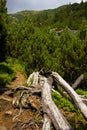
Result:
[[[5,87],[16,78],[16,72],[20,71],[25,75],[25,68],[17,59],[7,59],[0,63],[0,87]]]

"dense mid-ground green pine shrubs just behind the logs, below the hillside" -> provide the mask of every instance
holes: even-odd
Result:
[[[28,75],[45,67],[57,71],[65,80],[73,83],[87,71],[86,38],[80,39],[80,30],[74,34],[74,30],[68,27],[63,29],[60,36],[56,36],[57,29],[53,32],[50,30],[35,27],[29,18],[12,26],[8,32],[8,55],[18,58]]]

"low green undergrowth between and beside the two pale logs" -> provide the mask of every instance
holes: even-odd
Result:
[[[76,92],[87,97],[87,91],[77,89]],[[87,130],[86,120],[69,96],[64,97],[61,94],[52,92],[52,98],[74,130]]]

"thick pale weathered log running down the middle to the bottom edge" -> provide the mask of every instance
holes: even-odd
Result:
[[[53,102],[51,97],[51,89],[52,86],[48,83],[47,78],[44,77],[44,85],[42,87],[42,105],[44,113],[49,116],[56,130],[73,130]]]

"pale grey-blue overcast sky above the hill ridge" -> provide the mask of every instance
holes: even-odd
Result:
[[[68,3],[79,3],[81,0],[7,0],[8,13],[22,10],[53,9]]]

